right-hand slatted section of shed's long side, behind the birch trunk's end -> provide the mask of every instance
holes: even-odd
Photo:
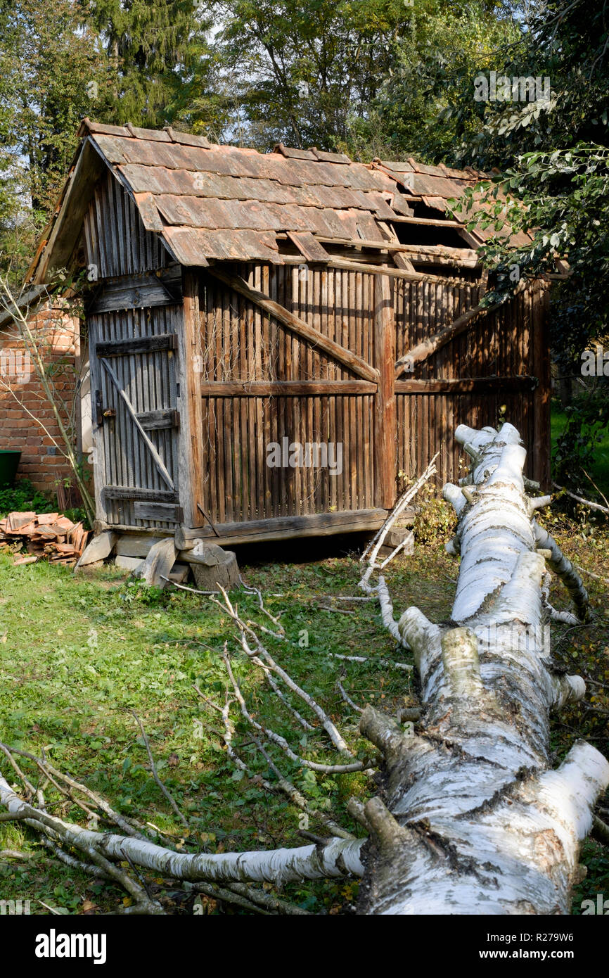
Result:
[[[431,307],[430,289],[433,289]],[[456,285],[397,282],[394,296],[398,358],[425,335],[437,333],[479,301],[478,287],[466,282]],[[535,324],[531,322],[533,312]],[[547,471],[546,446],[539,432],[548,419],[548,395],[542,398],[534,394],[526,383],[521,389],[514,389],[499,379],[539,378],[542,387],[549,389],[543,375],[547,359],[546,353],[544,359],[545,320],[542,303],[527,289],[497,312],[479,317],[468,331],[419,365],[413,375],[403,375],[404,379],[489,378],[490,382],[484,389],[470,392],[397,393],[399,472],[408,478],[420,474],[439,451],[438,486],[457,481],[463,474],[459,458],[461,466],[463,459],[453,438],[457,424],[497,426],[501,419],[511,422],[521,432],[528,449],[527,473],[540,478],[542,468]],[[540,337],[535,350],[534,334]],[[498,380],[494,382],[493,378]],[[540,421],[536,423],[537,417]]]

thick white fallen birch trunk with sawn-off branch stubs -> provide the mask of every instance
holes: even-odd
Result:
[[[547,500],[525,495],[516,429],[459,425],[456,437],[472,464],[468,488],[444,489],[461,556],[452,621],[411,607],[398,625],[419,674],[420,733],[370,706],[360,724],[386,772],[384,800],[362,814],[372,844],[361,911],[569,913],[609,764],[578,741],[549,769],[549,711],[585,692],[579,676],[552,673],[544,645],[545,558],[559,568],[562,555],[553,541],[537,552],[533,513]]]

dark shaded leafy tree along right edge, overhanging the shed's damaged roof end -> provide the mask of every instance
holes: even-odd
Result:
[[[532,245],[514,247],[499,234],[487,243],[496,293],[504,296],[512,288],[509,268],[528,277],[554,275],[555,258],[568,261],[567,280],[552,292],[550,339],[558,372],[569,381],[581,376],[584,350],[602,343],[608,332],[609,22],[600,0],[553,0],[527,27],[497,72],[548,79],[549,98],[474,103],[471,89],[468,98],[463,91],[454,111],[469,117],[477,111],[479,126],[458,160],[499,168],[493,185],[483,182],[479,188],[489,204],[488,225],[502,232],[507,221],[533,238]],[[504,195],[516,199],[507,209]],[[463,213],[468,206],[461,202],[458,209]],[[563,385],[564,402],[569,386]],[[603,377],[580,388],[568,416],[556,476],[581,491],[595,441],[609,424]]]

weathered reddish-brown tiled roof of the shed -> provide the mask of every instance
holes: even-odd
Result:
[[[217,146],[171,126],[142,129],[85,118],[79,135],[133,197],[145,227],[184,265],[204,265],[208,259],[282,262],[280,243],[284,250],[286,236],[304,254],[309,236],[326,244],[395,242],[396,223],[415,223],[421,206],[436,211],[438,221],[448,220],[446,200],[460,197],[480,177],[473,170],[425,166],[413,158],[364,164],[340,153],[283,144],[262,154]],[[64,203],[65,195],[56,219]],[[475,232],[463,246],[475,247],[484,238]],[[47,241],[53,242],[52,229]],[[323,247],[318,242],[315,246]]]

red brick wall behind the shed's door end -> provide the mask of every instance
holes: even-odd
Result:
[[[80,368],[78,318],[68,314],[60,299],[32,316],[29,325],[65,402],[62,418],[69,424]],[[53,495],[57,480],[69,475],[65,459],[53,444],[53,437],[62,444],[59,426],[33,364],[28,369],[26,348],[19,333],[7,333],[8,329],[0,333],[0,450],[21,451],[17,478],[31,479],[37,489]],[[28,411],[44,423],[49,434]]]

